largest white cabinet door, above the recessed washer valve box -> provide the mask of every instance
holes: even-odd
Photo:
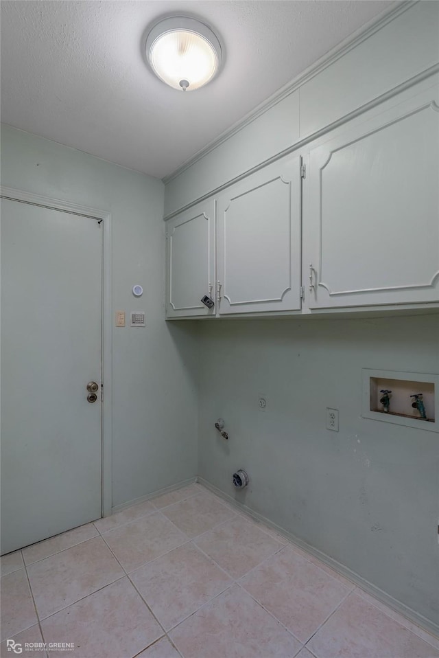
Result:
[[[311,150],[303,184],[310,308],[438,301],[439,106],[431,84]]]

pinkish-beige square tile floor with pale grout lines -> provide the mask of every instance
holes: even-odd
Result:
[[[6,640],[49,658],[439,658],[439,640],[200,484],[1,558]]]

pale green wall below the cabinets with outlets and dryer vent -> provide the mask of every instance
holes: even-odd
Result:
[[[200,350],[199,475],[437,624],[439,435],[361,418],[361,369],[438,373],[439,317],[206,321]]]

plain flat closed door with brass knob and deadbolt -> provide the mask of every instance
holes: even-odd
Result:
[[[1,200],[2,554],[101,516],[102,244],[93,218]]]

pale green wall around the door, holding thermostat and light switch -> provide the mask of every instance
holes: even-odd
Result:
[[[112,214],[113,317],[143,285],[146,328],[112,332],[113,506],[194,477],[195,334],[165,323],[163,183],[9,126],[1,183]]]

